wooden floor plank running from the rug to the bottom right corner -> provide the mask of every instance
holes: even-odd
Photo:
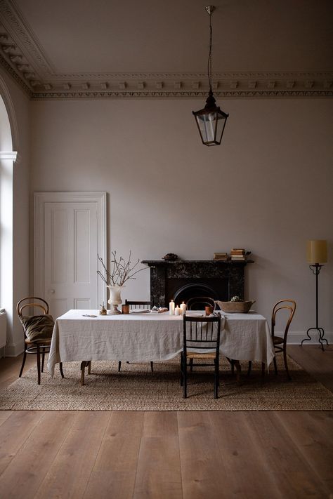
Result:
[[[301,418],[302,413],[299,413]],[[298,446],[289,438],[278,419],[278,413],[248,413],[254,439],[263,450],[266,463],[284,499],[328,498],[322,484],[303,458]]]

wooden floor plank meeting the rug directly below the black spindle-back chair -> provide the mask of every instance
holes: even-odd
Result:
[[[178,413],[184,499],[230,498],[233,477],[223,463],[207,412]]]

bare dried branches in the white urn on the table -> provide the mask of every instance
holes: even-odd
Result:
[[[129,279],[136,279],[136,277],[133,276],[146,268],[144,267],[143,269],[135,270],[140,260],[132,264],[131,251],[129,252],[129,258],[127,261],[122,256],[118,256],[117,251],[111,251],[111,255],[110,270],[107,270],[107,266],[103,262],[103,258],[101,258],[100,255],[97,255],[98,260],[103,267],[103,272],[98,270],[97,273],[107,286],[124,286],[126,281],[129,281]]]

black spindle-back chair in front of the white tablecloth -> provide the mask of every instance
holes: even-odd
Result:
[[[183,352],[181,352],[181,386],[183,397],[187,398],[188,360],[206,361],[196,367],[214,366],[214,399],[218,398],[219,354],[220,354],[221,316],[183,317]],[[201,350],[201,352],[200,352]],[[213,361],[207,364],[207,361]]]

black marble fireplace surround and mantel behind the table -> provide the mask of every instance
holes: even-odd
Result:
[[[244,298],[244,267],[252,262],[143,260],[141,263],[150,267],[150,300],[154,305],[167,307],[171,299],[180,302],[180,298],[188,298],[186,293],[192,291],[216,300],[230,300],[235,295]]]

